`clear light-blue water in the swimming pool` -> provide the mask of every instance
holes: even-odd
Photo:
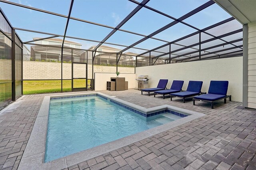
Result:
[[[45,162],[169,123],[181,117],[143,117],[98,96],[50,100]]]

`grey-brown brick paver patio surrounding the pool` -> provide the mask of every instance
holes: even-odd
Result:
[[[256,169],[256,110],[241,103],[162,99],[140,91],[102,91],[142,107],[173,105],[206,114],[166,132],[85,160],[67,170]],[[26,95],[0,115],[0,168],[17,169],[45,95]]]

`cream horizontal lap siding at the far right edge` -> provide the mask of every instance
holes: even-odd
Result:
[[[256,109],[256,22],[248,24],[248,107]]]

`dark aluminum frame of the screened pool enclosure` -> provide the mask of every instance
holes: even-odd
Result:
[[[2,32],[2,34],[4,34],[5,36],[7,36],[10,40],[12,40],[12,86],[14,86],[12,88],[12,93],[15,94],[15,56],[13,57],[13,55],[15,55],[15,45],[18,45],[21,49],[23,47],[23,44],[28,44],[28,45],[39,45],[39,44],[36,44],[34,42],[36,41],[40,41],[40,40],[47,40],[49,38],[56,38],[56,37],[62,37],[63,38],[63,41],[62,41],[62,45],[61,45],[61,65],[63,63],[63,49],[64,48],[67,48],[67,49],[76,49],[76,48],[69,48],[69,47],[64,47],[64,41],[65,41],[65,38],[72,38],[72,39],[76,39],[76,40],[84,40],[84,41],[89,41],[89,42],[96,42],[98,43],[98,45],[96,45],[96,47],[92,50],[88,50],[88,49],[78,49],[78,50],[81,50],[81,51],[85,51],[87,53],[87,59],[88,59],[88,51],[91,51],[92,52],[92,79],[93,79],[93,65],[94,65],[94,57],[95,57],[95,54],[96,52],[99,52],[97,51],[98,47],[100,47],[102,44],[109,44],[109,45],[118,45],[120,47],[124,47],[124,49],[114,53],[116,54],[116,71],[118,71],[118,63],[119,63],[119,60],[120,60],[120,57],[122,56],[122,54],[132,48],[132,49],[139,49],[139,50],[144,50],[145,52],[143,53],[140,53],[138,55],[136,55],[136,61],[135,61],[135,67],[138,67],[137,63],[138,63],[138,59],[140,58],[148,58],[149,59],[149,63],[147,63],[147,65],[154,65],[156,63],[157,60],[163,60],[164,61],[164,64],[169,64],[172,63],[175,61],[175,62],[188,62],[188,61],[195,61],[195,60],[204,60],[204,59],[212,59],[214,57],[236,57],[238,56],[238,54],[240,55],[241,54],[241,50],[242,49],[242,45],[236,45],[234,43],[238,43],[238,42],[242,42],[243,39],[240,38],[238,40],[232,40],[232,41],[226,41],[224,40],[223,38],[225,38],[226,36],[232,36],[233,34],[236,34],[236,33],[239,33],[239,32],[242,32],[242,29],[239,29],[239,30],[236,30],[236,31],[233,31],[233,32],[230,32],[230,33],[227,33],[227,34],[223,34],[223,35],[220,35],[220,36],[214,36],[213,34],[210,34],[208,32],[206,32],[207,30],[210,30],[212,28],[216,28],[218,26],[221,26],[222,24],[226,24],[228,22],[231,22],[232,20],[235,20],[233,17],[231,18],[228,18],[224,21],[221,21],[219,23],[216,23],[216,24],[213,24],[212,26],[209,26],[207,28],[204,28],[204,29],[199,29],[199,28],[196,28],[186,22],[184,22],[184,20],[186,18],[189,18],[191,16],[193,16],[194,14],[197,14],[198,12],[208,8],[209,6],[215,4],[215,2],[213,0],[209,0],[208,2],[206,2],[205,4],[202,4],[201,6],[199,6],[198,8],[188,12],[187,14],[181,16],[180,18],[174,18],[173,16],[170,16],[168,14],[165,14],[159,10],[156,10],[150,6],[147,6],[146,4],[150,1],[150,0],[143,0],[142,2],[137,2],[136,0],[129,0],[130,2],[134,3],[137,5],[136,8],[134,8],[134,10],[132,12],[130,12],[130,14],[128,14],[128,16],[126,16],[126,18],[124,18],[124,20],[122,20],[116,27],[112,27],[112,26],[107,26],[107,25],[104,25],[104,24],[98,24],[96,22],[90,22],[90,21],[87,21],[87,20],[82,20],[80,18],[74,18],[71,16],[71,11],[72,11],[72,8],[73,8],[73,3],[74,3],[74,0],[70,0],[70,8],[69,8],[69,12],[68,12],[68,15],[62,15],[62,14],[58,14],[58,13],[55,13],[55,12],[50,12],[50,11],[47,11],[47,10],[42,10],[42,9],[39,9],[39,8],[34,8],[34,7],[31,7],[31,6],[26,6],[26,5],[22,5],[22,4],[18,4],[18,3],[14,3],[14,2],[10,2],[10,1],[7,1],[7,0],[0,0],[0,2],[3,2],[3,3],[6,3],[6,4],[10,4],[10,5],[13,5],[13,6],[18,6],[19,8],[26,8],[26,9],[30,9],[30,10],[35,10],[35,11],[38,11],[38,12],[43,12],[43,13],[46,13],[46,14],[51,14],[51,15],[54,15],[54,16],[58,16],[58,17],[62,17],[62,18],[67,18],[67,22],[66,22],[66,27],[65,27],[65,31],[64,31],[64,35],[58,35],[58,34],[52,34],[52,33],[47,33],[47,32],[39,32],[39,31],[36,31],[36,30],[28,30],[28,29],[23,29],[23,28],[14,28],[10,22],[8,21],[7,17],[4,15],[4,12],[3,10],[0,8],[0,12],[1,14],[4,16],[4,19],[8,22],[9,26],[12,28],[12,33],[14,35],[16,35],[18,37],[18,34],[15,32],[15,30],[21,30],[21,31],[26,31],[26,32],[34,32],[34,33],[39,33],[39,34],[46,34],[46,35],[49,35],[49,37],[46,37],[46,38],[40,38],[40,39],[37,39],[37,40],[30,40],[30,41],[27,41],[27,42],[22,42],[22,40],[20,40],[20,38],[18,37],[18,39],[20,40],[20,42],[22,42],[22,46],[20,47],[20,45],[18,45],[16,42],[15,42],[15,36],[12,36],[12,38],[8,37],[6,35],[6,33],[2,30],[0,30],[0,32]],[[121,27],[126,23],[128,22],[137,12],[139,12],[142,8],[146,8],[148,10],[151,10],[153,12],[156,12],[157,14],[160,14],[162,16],[165,16],[167,18],[170,18],[172,20],[174,20],[173,22],[167,24],[166,26],[156,30],[155,32],[153,32],[152,34],[149,34],[149,35],[143,35],[143,34],[139,34],[139,33],[136,33],[136,32],[131,32],[131,31],[128,31],[128,30],[124,30],[124,29],[121,29]],[[96,26],[100,26],[100,27],[104,27],[104,28],[110,28],[112,29],[112,31],[105,37],[103,38],[102,41],[96,41],[96,40],[89,40],[89,39],[85,39],[85,38],[79,38],[79,37],[72,37],[72,36],[66,36],[66,32],[67,32],[67,29],[68,29],[68,24],[69,24],[69,21],[71,20],[76,20],[76,21],[79,21],[79,22],[84,22],[84,23],[88,23],[88,24],[93,24],[93,25],[96,25]],[[155,38],[153,36],[155,36],[156,34],[166,30],[167,28],[170,28],[176,24],[183,24],[184,26],[188,26],[190,28],[193,28],[194,30],[196,30],[196,32],[192,33],[192,34],[189,34],[187,36],[184,36],[182,38],[179,38],[177,40],[174,40],[174,41],[166,41],[166,40],[162,40],[162,39],[159,39],[159,38]],[[129,33],[129,34],[133,34],[133,35],[137,35],[137,36],[142,36],[144,38],[142,38],[141,40],[131,44],[131,45],[122,45],[122,44],[116,44],[116,43],[109,43],[109,42],[106,42],[116,31],[121,31],[121,32],[126,32],[126,33]],[[201,33],[204,33],[208,36],[211,36],[212,38],[208,39],[208,40],[204,40],[204,41],[201,41]],[[198,43],[194,43],[192,45],[182,45],[182,44],[179,44],[178,42],[181,41],[181,40],[185,40],[186,38],[190,38],[192,36],[195,36],[195,35],[199,35],[199,39],[198,39]],[[136,45],[138,45],[139,43],[141,42],[144,42],[145,40],[148,40],[148,39],[152,39],[152,40],[158,40],[160,42],[165,42],[164,45],[160,45],[159,47],[156,47],[154,49],[144,49],[144,48],[139,48],[139,47],[135,47]],[[212,45],[211,47],[207,47],[207,48],[202,48],[201,45],[204,44],[204,43],[207,43],[207,42],[211,42],[211,41],[214,41],[214,40],[221,40],[223,43],[221,44],[218,44],[218,45]],[[180,49],[176,49],[176,50],[173,50],[171,51],[172,47],[171,45],[174,44],[174,45],[180,45],[180,46],[183,46],[181,47]],[[196,46],[199,45],[199,49],[197,49]],[[207,51],[209,49],[214,49],[216,47],[220,47],[222,45],[232,45],[232,47],[230,48],[227,48],[227,49],[223,49],[223,50],[215,50],[215,51]],[[40,45],[40,46],[46,46],[46,47],[56,47],[54,45]],[[164,51],[161,51],[160,49],[163,48],[163,47],[166,47],[166,46],[169,46],[169,51],[166,53]],[[182,50],[185,50],[185,49],[195,49],[196,51],[193,51],[193,52],[187,52],[187,53],[182,53],[180,55],[177,55],[176,52],[178,51],[182,51]],[[236,50],[236,51],[228,51],[228,50]],[[205,51],[207,52],[206,54],[202,54],[202,51]],[[218,54],[218,52],[223,52],[223,51],[228,51],[226,53],[222,53],[222,54]],[[101,51],[100,51],[101,52]],[[157,52],[157,53],[161,53],[160,55],[157,55],[157,56],[153,56],[152,55],[152,52]],[[23,53],[23,49],[22,49],[22,53]],[[147,54],[149,53],[149,56],[144,56],[144,54]],[[192,53],[199,53],[199,55],[196,55],[196,56],[188,56],[188,55],[191,55]],[[203,56],[205,55],[208,55],[208,54],[212,54],[212,56],[210,57],[204,57],[202,58]],[[167,55],[168,57],[167,58],[161,58],[163,56]],[[171,57],[171,55],[174,55],[175,57]],[[183,58],[183,59],[176,59],[176,58],[179,58],[179,57],[186,57],[186,58]],[[173,60],[173,59],[176,59],[176,60]],[[154,61],[153,61],[154,60]],[[23,58],[22,58],[22,63],[23,63]],[[62,70],[62,67],[61,66],[61,70]],[[63,75],[62,75],[62,71],[61,71],[61,82],[63,80]],[[22,77],[23,79],[23,77]],[[23,82],[23,80],[21,80]],[[23,84],[23,83],[22,83]],[[62,91],[62,83],[61,83],[61,91]],[[23,93],[22,93],[23,94]],[[12,100],[15,101],[15,95],[12,96]]]

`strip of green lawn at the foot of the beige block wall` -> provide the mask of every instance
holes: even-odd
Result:
[[[74,88],[85,86],[85,79],[74,79]],[[90,85],[90,80],[88,80]],[[62,88],[64,92],[71,91],[71,80],[63,80]],[[23,94],[56,93],[61,91],[60,80],[27,80],[23,81]]]

